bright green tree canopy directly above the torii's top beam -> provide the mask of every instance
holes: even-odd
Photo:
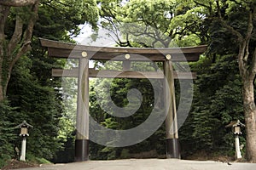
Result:
[[[175,47],[205,42],[200,8],[176,0],[102,1],[101,25],[120,47]],[[193,39],[194,41],[191,41]]]

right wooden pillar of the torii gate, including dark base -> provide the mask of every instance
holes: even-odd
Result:
[[[175,88],[171,56],[166,56],[164,71],[166,76],[166,157],[180,159],[180,150],[177,134],[177,111],[175,101]]]

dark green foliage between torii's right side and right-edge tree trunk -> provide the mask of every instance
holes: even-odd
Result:
[[[198,79],[195,81],[192,110],[180,130],[183,151],[189,154],[189,151],[195,150],[216,153],[222,150],[222,154],[234,156],[234,136],[230,129],[224,126],[232,120],[239,119],[244,122],[242,82],[237,64],[239,44],[237,37],[218,17],[221,15],[225,23],[244,36],[250,2],[194,1],[194,3],[197,7],[204,8],[206,15],[203,25],[206,26],[210,38],[206,56],[191,65],[192,70],[198,73]],[[254,30],[250,38],[249,51],[252,53],[255,48]],[[241,144],[245,144],[244,129]],[[193,150],[189,150],[192,145]]]

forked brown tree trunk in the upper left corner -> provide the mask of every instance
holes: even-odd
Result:
[[[0,102],[6,98],[6,91],[13,67],[18,59],[31,49],[32,31],[38,19],[38,5],[40,0],[12,0],[0,1]],[[5,25],[11,7],[31,5],[30,18],[27,20],[26,29],[24,21],[16,14],[15,30],[12,37],[6,40]]]

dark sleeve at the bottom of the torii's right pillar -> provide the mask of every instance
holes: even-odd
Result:
[[[166,158],[180,159],[180,145],[178,139],[166,139]]]

